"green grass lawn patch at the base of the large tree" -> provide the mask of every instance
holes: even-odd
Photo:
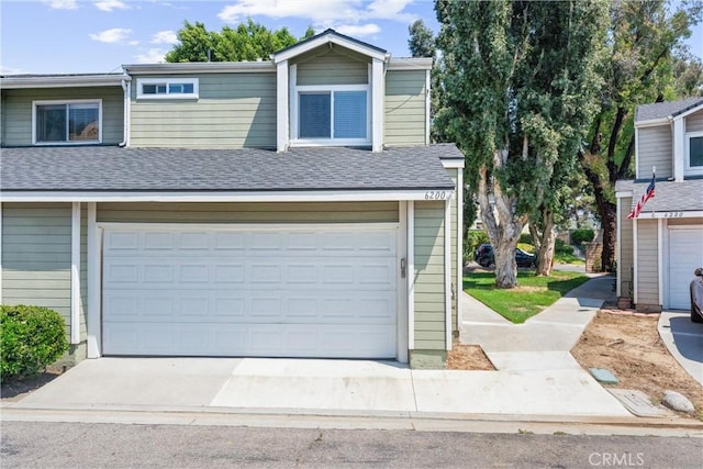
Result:
[[[550,277],[535,277],[534,270],[517,272],[517,287],[495,288],[493,272],[473,272],[464,277],[464,290],[515,324],[542,312],[589,278],[579,272],[553,271]]]

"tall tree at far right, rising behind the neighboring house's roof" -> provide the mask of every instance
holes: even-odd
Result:
[[[589,144],[579,152],[603,227],[603,269],[613,269],[615,260],[615,181],[634,175],[635,107],[701,92],[700,60],[687,56],[682,43],[700,21],[702,5],[683,2],[673,13],[661,0],[611,5],[605,85]]]

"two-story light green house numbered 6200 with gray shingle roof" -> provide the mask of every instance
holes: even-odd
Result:
[[[425,58],[327,30],[270,60],[8,76],[1,299],[75,359],[346,357],[440,368],[464,157]]]

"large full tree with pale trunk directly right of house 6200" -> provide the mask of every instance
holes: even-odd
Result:
[[[606,5],[436,1],[446,102],[435,124],[466,155],[500,288],[517,284],[514,252],[529,215],[551,223],[560,206],[599,86]]]

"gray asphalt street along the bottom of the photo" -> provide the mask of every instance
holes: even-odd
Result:
[[[2,423],[8,468],[701,468],[703,438]]]

